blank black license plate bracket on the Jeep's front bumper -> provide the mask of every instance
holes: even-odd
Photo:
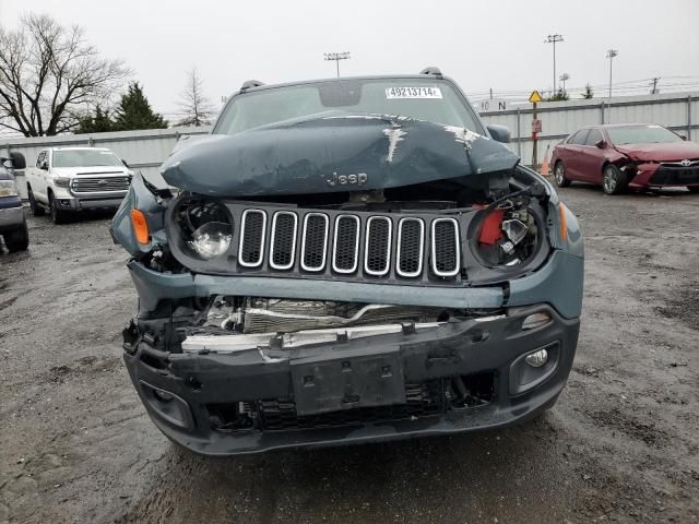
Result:
[[[291,361],[297,415],[405,404],[399,349]]]

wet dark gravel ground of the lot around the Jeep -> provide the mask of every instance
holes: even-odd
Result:
[[[0,254],[0,523],[699,520],[699,195],[573,186],[585,299],[568,386],[506,431],[206,458],[121,362],[135,311],[109,217],[31,218]]]

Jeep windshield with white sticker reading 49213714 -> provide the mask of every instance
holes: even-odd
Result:
[[[238,95],[224,109],[214,133],[235,134],[330,111],[411,117],[484,132],[466,99],[451,83],[379,79],[324,81]]]

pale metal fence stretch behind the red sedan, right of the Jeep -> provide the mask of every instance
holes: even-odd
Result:
[[[487,123],[506,126],[512,133],[510,150],[522,163],[532,164],[532,105],[517,109],[482,112]],[[542,121],[537,156],[541,163],[548,148],[578,128],[597,123],[660,123],[688,140],[699,140],[699,93],[671,93],[666,95],[624,96],[611,99],[576,99],[541,103],[537,118]]]

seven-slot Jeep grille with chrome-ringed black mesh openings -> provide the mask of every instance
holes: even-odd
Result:
[[[268,218],[271,223],[268,234]],[[427,222],[427,223],[426,223]],[[394,240],[395,239],[395,240]],[[402,278],[429,274],[451,278],[461,270],[459,223],[454,218],[366,217],[321,212],[297,214],[249,209],[242,213],[238,262],[274,271],[364,274]],[[265,257],[265,249],[269,255]],[[427,257],[426,257],[427,255]]]

